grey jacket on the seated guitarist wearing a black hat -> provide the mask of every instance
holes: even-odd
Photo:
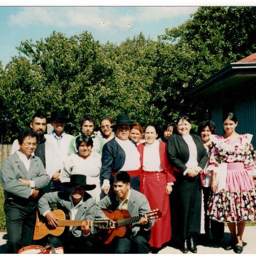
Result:
[[[64,193],[63,191],[50,192],[44,194],[38,201],[38,209],[40,214],[43,214],[47,210],[50,210],[49,204],[57,204],[58,209],[62,209],[65,213],[71,213],[71,201],[69,199],[70,193]],[[87,192],[84,193],[83,203],[79,205],[78,211],[76,213],[75,220],[90,220],[95,219],[95,201]],[[92,232],[92,229],[91,229]],[[73,227],[72,233],[76,237],[82,235],[81,227]]]

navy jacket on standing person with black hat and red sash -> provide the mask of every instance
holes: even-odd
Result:
[[[130,140],[130,139],[129,139]],[[136,146],[133,140],[130,140]],[[115,138],[108,141],[102,149],[101,180],[110,180],[111,172],[118,172],[125,164],[125,151],[116,142]]]

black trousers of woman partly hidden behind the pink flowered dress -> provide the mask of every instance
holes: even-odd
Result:
[[[218,222],[210,219],[207,215],[209,195],[211,193],[211,187],[202,187],[204,194],[204,230],[206,239],[209,238],[210,224],[211,233],[215,241],[220,242],[224,237],[224,222]]]

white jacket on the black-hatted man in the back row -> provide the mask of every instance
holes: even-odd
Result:
[[[46,137],[47,141],[49,143],[52,143],[52,145],[55,148],[55,152],[57,153],[58,157],[61,159],[61,163],[67,158],[68,154],[68,148],[70,145],[70,141],[74,138],[74,136],[70,134],[63,133],[63,137],[61,139],[61,146],[60,148],[58,147],[57,141],[53,135],[52,132],[49,134],[45,134],[44,137]]]

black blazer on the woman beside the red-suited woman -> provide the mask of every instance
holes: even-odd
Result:
[[[208,162],[208,154],[200,136],[190,134],[195,142],[198,154],[198,166],[202,169]],[[180,172],[185,172],[185,163],[189,160],[189,147],[180,134],[173,134],[168,137],[166,151],[169,162]]]

